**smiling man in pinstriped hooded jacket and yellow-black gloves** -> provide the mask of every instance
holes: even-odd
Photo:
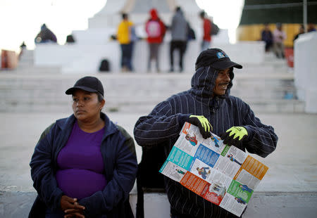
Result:
[[[167,158],[184,123],[189,122],[199,127],[205,139],[212,131],[229,146],[263,158],[272,153],[278,141],[273,127],[263,124],[247,103],[230,96],[233,68],[242,65],[232,62],[224,51],[202,51],[196,61],[192,88],[170,96],[137,120],[134,134],[139,146],[161,146]],[[172,217],[236,217],[177,181],[164,179]]]

